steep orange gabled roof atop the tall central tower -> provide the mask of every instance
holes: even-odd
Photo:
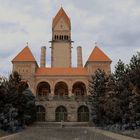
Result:
[[[64,18],[64,20],[66,21],[66,23],[68,24],[68,26],[69,27],[71,26],[71,24],[70,24],[70,18],[67,16],[66,12],[61,7],[60,10],[58,11],[58,13],[56,14],[56,16],[53,18],[53,25],[52,25],[53,28],[55,27],[55,25],[58,23],[58,21],[62,17]]]

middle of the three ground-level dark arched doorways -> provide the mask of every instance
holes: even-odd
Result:
[[[57,122],[67,121],[67,109],[64,106],[59,106],[55,110],[55,120]]]

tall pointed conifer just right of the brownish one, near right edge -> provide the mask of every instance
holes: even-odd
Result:
[[[129,121],[129,99],[131,91],[128,89],[129,77],[127,75],[126,65],[119,60],[115,66],[114,78],[116,85],[117,99],[120,102],[121,107],[121,123],[127,123]]]

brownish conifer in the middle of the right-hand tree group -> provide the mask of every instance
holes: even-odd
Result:
[[[120,116],[122,115],[122,110],[120,106],[120,100],[116,94],[116,84],[113,75],[108,76],[105,100],[105,123],[107,125],[119,123],[121,121]]]

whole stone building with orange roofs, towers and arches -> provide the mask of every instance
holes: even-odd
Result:
[[[38,121],[89,121],[86,104],[88,80],[96,69],[111,72],[110,58],[95,46],[85,66],[77,47],[77,67],[72,67],[71,21],[61,8],[52,23],[51,67],[46,67],[46,47],[38,65],[28,45],[12,60],[13,71],[27,80],[36,96]]]

